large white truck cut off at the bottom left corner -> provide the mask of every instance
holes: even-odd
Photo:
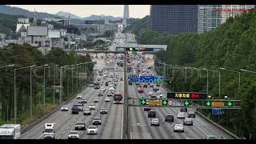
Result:
[[[20,124],[4,124],[0,126],[0,139],[19,139],[21,129]]]

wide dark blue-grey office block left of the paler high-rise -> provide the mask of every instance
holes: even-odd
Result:
[[[152,30],[166,34],[197,32],[197,5],[151,5]]]

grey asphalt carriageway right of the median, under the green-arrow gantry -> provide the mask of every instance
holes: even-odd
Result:
[[[134,61],[133,61],[134,62]],[[136,63],[136,62],[134,62]],[[149,63],[145,63],[144,66],[149,66]],[[153,71],[151,73],[154,74]],[[162,86],[158,87],[164,96],[167,92]],[[135,84],[129,86],[129,96],[134,98],[149,98],[148,92],[153,91],[152,88],[143,88],[144,93],[138,94],[137,87]],[[177,102],[178,103],[178,102]],[[223,136],[226,139],[232,139],[229,134],[219,130],[218,127],[214,126],[210,122],[207,122],[204,118],[196,115],[193,118],[194,126],[184,126],[184,133],[174,132],[175,124],[182,124],[184,119],[178,119],[177,114],[180,108],[168,108],[168,107],[152,107],[156,111],[157,118],[159,118],[160,126],[150,126],[151,118],[147,118],[147,112],[143,110],[145,106],[130,106],[130,138],[132,139],[203,139],[206,135],[213,134],[215,136]],[[190,111],[190,109],[188,109]],[[191,110],[194,111],[194,110]],[[165,122],[166,114],[174,115],[174,122]]]

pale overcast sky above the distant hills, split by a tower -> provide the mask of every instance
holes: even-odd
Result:
[[[58,11],[64,11],[76,14],[80,17],[89,17],[91,14],[105,14],[114,17],[123,16],[124,5],[9,5],[22,9],[38,12],[56,14]],[[129,5],[131,18],[143,18],[150,14],[150,5]]]

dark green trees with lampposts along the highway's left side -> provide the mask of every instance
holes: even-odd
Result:
[[[70,66],[78,63],[90,62],[78,66]],[[46,55],[28,44],[9,44],[0,50],[0,67],[14,64],[14,66],[0,69],[0,125],[14,123],[14,69],[15,90],[17,95],[17,123],[22,128],[54,110],[62,102],[71,98],[90,82],[94,64],[90,56],[81,56],[74,51],[66,53],[60,48],[52,48]],[[43,66],[48,64],[48,66]],[[19,69],[26,66],[31,68]],[[59,66],[56,66],[59,65]],[[60,66],[62,68],[62,99],[59,102]],[[44,73],[45,71],[45,73]],[[86,74],[81,77],[79,74]],[[45,81],[44,81],[45,77]],[[44,85],[45,84],[45,85]],[[43,111],[43,91],[45,86],[45,111]],[[30,117],[30,90],[32,90],[32,118]]]

